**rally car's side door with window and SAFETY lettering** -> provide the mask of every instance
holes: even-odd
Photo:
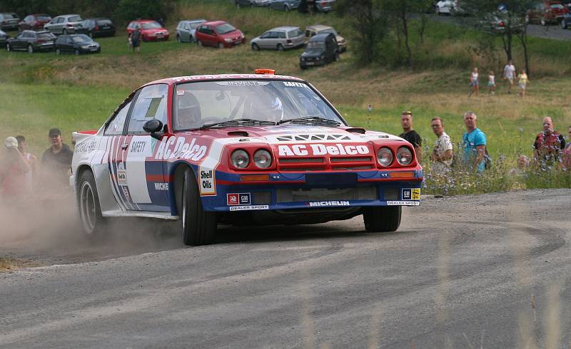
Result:
[[[113,166],[116,167],[116,184],[126,187],[128,209],[136,211],[170,212],[168,180],[164,176],[163,162],[153,160],[158,140],[143,130],[148,120],[167,122],[168,85],[148,85],[136,95],[128,118],[127,132],[121,141]],[[124,178],[122,177],[124,171]],[[123,192],[123,194],[125,194]]]

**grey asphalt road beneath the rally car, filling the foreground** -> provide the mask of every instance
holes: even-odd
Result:
[[[393,234],[360,217],[193,248],[128,231],[121,251],[0,274],[0,347],[568,348],[570,212],[557,189],[426,199]],[[48,251],[29,239],[14,256]]]

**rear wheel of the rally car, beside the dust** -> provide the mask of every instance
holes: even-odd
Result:
[[[77,207],[84,232],[89,237],[101,235],[106,219],[101,215],[94,174],[90,170],[81,172],[77,184]]]

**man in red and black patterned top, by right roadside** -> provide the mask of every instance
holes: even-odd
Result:
[[[535,137],[535,158],[542,169],[552,166],[561,160],[562,150],[565,149],[565,138],[553,128],[549,116],[543,118],[543,130]]]

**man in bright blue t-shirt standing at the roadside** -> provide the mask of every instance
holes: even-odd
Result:
[[[464,152],[463,165],[471,167],[477,172],[483,172],[486,167],[487,149],[486,135],[476,127],[477,115],[474,112],[464,114],[466,132],[462,135]]]

